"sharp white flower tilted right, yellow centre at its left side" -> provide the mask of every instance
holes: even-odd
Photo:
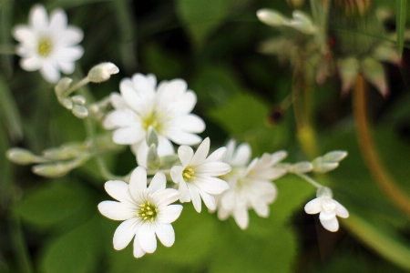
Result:
[[[190,202],[200,212],[202,198],[205,206],[215,209],[214,195],[228,189],[228,183],[217,178],[231,171],[231,166],[221,162],[225,156],[226,147],[220,147],[207,158],[210,151],[210,138],[205,138],[197,151],[191,147],[181,146],[178,149],[182,166],[174,166],[170,170],[172,180],[179,184],[180,202]]]

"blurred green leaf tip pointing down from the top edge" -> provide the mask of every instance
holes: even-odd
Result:
[[[231,0],[177,0],[180,21],[196,45],[202,45],[229,14]]]

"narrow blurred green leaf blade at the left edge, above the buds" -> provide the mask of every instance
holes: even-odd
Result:
[[[5,82],[5,78],[0,75],[0,116],[5,121],[9,135],[15,140],[23,138],[23,128],[21,117],[15,104],[10,88]]]

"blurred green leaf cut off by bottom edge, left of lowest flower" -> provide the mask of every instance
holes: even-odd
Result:
[[[98,217],[93,217],[86,224],[49,242],[42,256],[41,272],[94,272],[100,252],[97,224]]]

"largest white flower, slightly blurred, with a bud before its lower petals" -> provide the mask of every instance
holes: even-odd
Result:
[[[111,95],[115,110],[104,120],[107,129],[115,129],[113,141],[131,145],[134,153],[144,155],[138,149],[148,153],[145,137],[149,126],[153,126],[159,138],[159,157],[174,153],[169,140],[179,145],[200,143],[200,136],[195,134],[203,132],[205,124],[199,116],[190,114],[197,97],[187,91],[187,83],[174,79],[156,85],[153,75],[135,74],[121,81],[121,94]]]

